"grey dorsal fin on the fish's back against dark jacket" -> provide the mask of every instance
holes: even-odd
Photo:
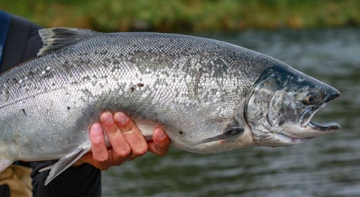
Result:
[[[88,38],[98,32],[79,28],[49,28],[39,30],[43,41],[43,48],[39,50],[38,56],[45,55],[60,49],[73,42]]]

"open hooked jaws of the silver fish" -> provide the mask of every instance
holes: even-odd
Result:
[[[307,130],[311,130],[311,131],[322,131],[322,132],[339,130],[341,127],[336,122],[320,124],[320,123],[315,123],[315,122],[311,121],[313,119],[314,115],[318,111],[320,111],[322,108],[324,108],[332,100],[339,99],[339,98],[340,98],[340,94],[333,94],[331,96],[326,97],[321,104],[319,104],[317,106],[313,106],[313,107],[308,107],[307,109],[305,109],[300,118],[301,127],[306,128]]]

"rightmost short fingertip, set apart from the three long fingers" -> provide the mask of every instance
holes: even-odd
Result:
[[[164,156],[169,151],[170,139],[163,129],[157,128],[152,134],[152,140],[148,142],[149,151],[158,156]]]

